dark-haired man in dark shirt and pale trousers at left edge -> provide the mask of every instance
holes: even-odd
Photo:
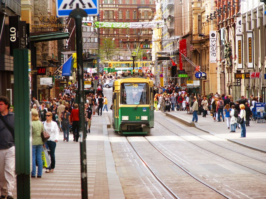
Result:
[[[0,97],[0,198],[14,199],[15,139],[14,113],[9,111],[10,102]]]

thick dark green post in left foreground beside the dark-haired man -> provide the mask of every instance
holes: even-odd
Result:
[[[30,199],[31,115],[30,70],[28,49],[14,49],[15,158],[17,199]]]

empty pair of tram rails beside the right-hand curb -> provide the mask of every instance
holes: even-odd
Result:
[[[157,114],[155,114],[155,115],[157,115]],[[160,118],[163,118],[163,117],[161,117],[160,115],[157,115],[157,116],[159,116]],[[165,119],[165,118],[163,118],[163,119],[164,119],[164,120],[167,120],[167,119]],[[233,162],[233,163],[235,163],[235,164],[238,164],[238,165],[240,165],[240,166],[243,166],[243,167],[246,167],[246,168],[251,169],[251,170],[253,170],[253,171],[259,172],[260,174],[266,175],[266,173],[264,173],[264,172],[258,171],[258,170],[254,169],[254,168],[251,168],[251,167],[248,167],[248,166],[245,166],[245,165],[242,165],[241,163],[235,162],[235,161],[230,160],[230,159],[228,159],[228,158],[226,158],[226,157],[223,157],[222,155],[219,155],[219,154],[214,153],[214,152],[212,152],[212,151],[210,151],[210,150],[208,150],[208,149],[205,149],[205,148],[201,147],[200,145],[197,145],[197,144],[195,144],[194,142],[189,141],[188,139],[185,139],[183,136],[178,135],[178,133],[173,132],[172,130],[170,130],[169,128],[167,128],[167,127],[164,126],[163,124],[160,124],[160,123],[157,122],[156,120],[155,120],[155,122],[158,123],[160,126],[163,126],[164,128],[166,128],[168,131],[172,132],[173,134],[177,135],[178,137],[182,138],[183,140],[186,140],[186,141],[188,141],[189,143],[191,143],[191,144],[193,144],[193,145],[195,145],[195,146],[197,146],[197,147],[199,147],[199,148],[201,148],[201,149],[203,149],[203,150],[206,150],[207,152],[210,152],[210,153],[212,153],[212,154],[214,154],[214,155],[217,155],[217,156],[219,156],[219,157],[221,157],[221,158],[224,158],[224,159],[226,159],[226,160],[228,160],[228,161],[230,161],[230,162]],[[171,121],[169,121],[169,120],[167,120],[167,122],[170,122],[170,123],[174,124],[173,122],[171,122]],[[190,134],[192,134],[192,135],[194,135],[194,136],[197,136],[196,134],[194,134],[194,133],[192,133],[192,132],[190,132],[190,131],[188,131],[188,130],[186,130],[186,129],[184,129],[184,128],[181,128],[181,127],[179,127],[179,126],[176,125],[176,124],[174,124],[174,126],[180,128],[180,129],[182,129],[182,130],[184,130],[184,131],[186,131],[186,132],[188,132],[188,133],[190,133]],[[198,136],[197,136],[197,137],[198,137]],[[249,157],[249,158],[255,159],[255,160],[257,160],[257,161],[260,161],[260,162],[266,163],[265,161],[262,161],[262,160],[259,160],[259,159],[256,159],[256,158],[253,158],[253,157],[250,157],[249,155],[245,155],[245,154],[243,154],[243,153],[236,152],[235,150],[232,150],[232,149],[228,149],[228,148],[226,148],[226,147],[224,147],[224,146],[221,146],[221,145],[219,145],[219,144],[216,144],[216,143],[214,143],[214,142],[211,142],[211,141],[209,141],[209,140],[206,140],[206,139],[204,139],[204,138],[202,138],[202,137],[200,137],[200,138],[203,139],[203,140],[205,140],[205,141],[208,141],[208,142],[210,142],[210,143],[212,143],[212,144],[214,144],[214,145],[217,145],[217,146],[219,146],[219,147],[222,147],[222,148],[224,148],[224,149],[227,149],[227,150],[230,150],[230,151],[232,151],[232,152],[235,152],[235,153],[238,153],[238,154],[244,155],[244,156],[246,156],[246,157]]]

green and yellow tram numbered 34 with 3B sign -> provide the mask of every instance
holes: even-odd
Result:
[[[125,77],[113,84],[113,128],[119,134],[148,134],[154,126],[153,81]]]

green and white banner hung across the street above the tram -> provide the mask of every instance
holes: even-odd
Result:
[[[95,21],[93,26],[95,28],[161,28],[164,27],[164,20],[142,22]]]

